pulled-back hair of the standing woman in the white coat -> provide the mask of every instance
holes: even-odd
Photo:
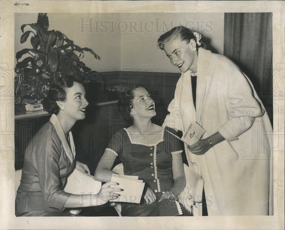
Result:
[[[181,39],[181,41],[186,41],[187,44],[190,43],[191,39],[194,39],[196,42],[196,48],[198,50],[199,47],[207,49],[207,46],[200,40],[201,45],[197,44],[197,38],[194,35],[194,32],[191,29],[188,29],[184,26],[178,26],[172,28],[170,31],[167,31],[163,35],[159,37],[157,40],[157,47],[161,50],[164,50],[163,45],[168,43],[171,39]]]

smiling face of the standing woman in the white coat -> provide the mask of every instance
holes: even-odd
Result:
[[[193,51],[191,41],[187,44],[186,41],[176,38],[171,39],[163,45],[164,52],[170,59],[171,64],[177,66],[182,73],[185,73],[189,69],[192,72],[197,72],[198,53],[197,51]],[[194,45],[196,46],[196,43]]]

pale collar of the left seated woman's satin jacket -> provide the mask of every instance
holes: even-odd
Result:
[[[70,147],[69,147],[69,145],[66,141],[66,138],[65,138],[63,128],[62,128],[60,121],[58,120],[58,118],[55,114],[52,114],[52,116],[50,117],[50,122],[54,125],[56,133],[62,142],[62,146],[64,148],[64,151],[65,151],[66,155],[68,156],[70,163],[72,164],[74,162],[74,158],[75,158],[75,146],[74,146],[71,131],[68,133],[69,144],[70,144]]]

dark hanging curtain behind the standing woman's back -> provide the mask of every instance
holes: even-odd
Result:
[[[225,13],[224,55],[249,77],[272,124],[272,13]]]

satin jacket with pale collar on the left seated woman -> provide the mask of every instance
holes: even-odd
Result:
[[[28,211],[62,211],[70,193],[62,190],[74,169],[75,148],[52,114],[31,140],[26,152],[21,184],[17,190],[15,214]],[[70,147],[69,147],[70,145]]]

